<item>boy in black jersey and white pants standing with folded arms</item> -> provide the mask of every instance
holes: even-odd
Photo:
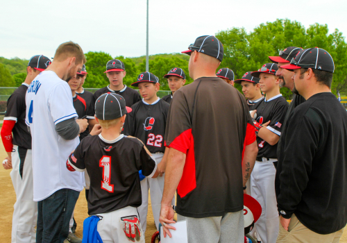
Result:
[[[257,237],[263,242],[274,243],[278,235],[278,212],[273,181],[276,174],[277,142],[280,139],[282,124],[288,103],[280,94],[280,81],[276,77],[276,63],[266,63],[251,75],[260,78],[260,89],[266,97],[255,112],[258,155],[251,174],[251,195],[262,206],[262,215],[255,224]],[[259,239],[258,239],[259,240]]]

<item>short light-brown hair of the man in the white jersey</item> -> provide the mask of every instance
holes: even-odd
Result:
[[[54,55],[54,60],[62,62],[71,57],[76,58],[76,64],[79,64],[81,62],[83,62],[84,64],[87,61],[80,45],[71,41],[60,44],[60,46],[56,50],[56,54]]]

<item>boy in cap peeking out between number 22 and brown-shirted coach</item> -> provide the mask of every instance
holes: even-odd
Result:
[[[164,78],[167,78],[167,83],[169,84],[171,94],[162,97],[162,99],[164,101],[167,101],[167,103],[171,103],[172,96],[174,95],[176,90],[185,85],[185,72],[179,67],[174,67],[164,75]]]

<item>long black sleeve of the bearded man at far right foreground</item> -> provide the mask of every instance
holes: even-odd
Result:
[[[301,201],[312,171],[312,159],[320,142],[325,140],[321,117],[312,109],[301,114],[294,111],[293,117],[288,121],[285,153],[279,175],[278,212],[286,219],[291,217]]]

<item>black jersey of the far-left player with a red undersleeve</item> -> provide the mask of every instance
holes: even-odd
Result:
[[[28,127],[25,124],[26,90],[28,90],[28,85],[22,83],[22,85],[11,94],[7,101],[6,115],[3,119],[16,121],[16,124],[12,129],[12,144],[22,146],[25,149],[31,149],[31,134],[28,132]]]

